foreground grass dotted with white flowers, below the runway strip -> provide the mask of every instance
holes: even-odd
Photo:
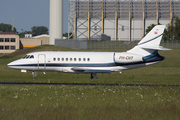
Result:
[[[0,86],[1,119],[179,119],[179,87]]]

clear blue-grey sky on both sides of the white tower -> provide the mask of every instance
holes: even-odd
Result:
[[[18,32],[33,26],[49,29],[49,0],[1,0],[0,23],[12,24]],[[63,33],[68,32],[68,0],[63,0]]]

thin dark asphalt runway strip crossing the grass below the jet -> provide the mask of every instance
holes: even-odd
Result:
[[[139,86],[139,87],[179,87],[180,85],[150,85],[150,84],[103,84],[103,83],[25,83],[25,82],[0,82],[0,85],[65,85],[65,86]]]

